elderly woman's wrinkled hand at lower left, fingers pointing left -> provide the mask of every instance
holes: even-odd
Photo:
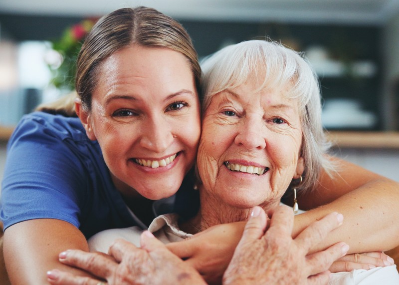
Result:
[[[99,280],[106,280],[108,285],[206,284],[193,267],[172,254],[150,232],[142,234],[141,247],[139,249],[129,242],[118,240],[110,247],[111,257],[69,250],[60,255],[60,261],[86,270]],[[61,271],[52,271],[47,276],[52,285],[105,284]]]

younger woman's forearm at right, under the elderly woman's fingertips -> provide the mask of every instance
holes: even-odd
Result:
[[[370,181],[337,200],[295,217],[293,236],[331,212],[344,215],[344,224],[313,250],[345,242],[349,253],[385,251],[398,246],[399,186],[388,179]],[[299,202],[300,204],[300,202]]]

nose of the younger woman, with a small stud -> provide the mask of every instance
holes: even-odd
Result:
[[[146,118],[140,145],[152,152],[163,153],[172,144],[174,136],[171,125],[163,118]]]

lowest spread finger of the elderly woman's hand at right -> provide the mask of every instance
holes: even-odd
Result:
[[[309,265],[307,267],[309,269],[308,275],[311,276],[328,270],[333,262],[346,255],[348,250],[349,246],[347,244],[338,243],[322,252],[307,256],[306,260]]]

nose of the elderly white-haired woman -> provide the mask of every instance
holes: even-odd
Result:
[[[263,118],[248,115],[237,125],[234,143],[248,150],[264,149],[266,147],[265,126]]]

